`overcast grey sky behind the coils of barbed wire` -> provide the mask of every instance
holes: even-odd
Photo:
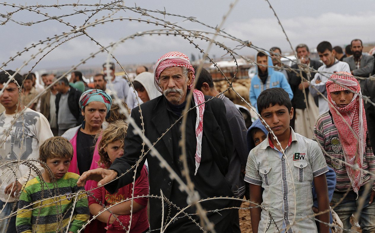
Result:
[[[37,1],[39,5],[52,4],[93,4],[94,1]],[[110,1],[98,1],[100,3],[107,3]],[[12,3],[25,5],[25,1],[12,1]],[[374,25],[375,15],[375,1],[276,1],[270,0],[275,9],[284,29],[290,39],[293,48],[299,43],[306,43],[311,49],[314,49],[319,42],[328,40],[333,46],[346,45],[354,38],[360,38],[364,43],[374,42]],[[27,1],[27,5],[34,5],[36,1]],[[195,17],[204,24],[216,27],[222,21],[223,15],[229,9],[230,1],[227,0],[190,0],[190,1],[170,1],[170,0],[137,0],[136,6],[148,10],[166,10],[168,13],[176,15],[183,15],[187,17]],[[134,1],[126,1],[126,6],[134,7]],[[7,12],[13,12],[20,8],[1,6],[0,14],[6,15]],[[35,9],[35,7],[33,8]],[[49,16],[68,15],[80,10],[96,9],[91,6],[61,6],[39,8],[41,12],[48,13]],[[113,13],[110,10],[102,10],[89,19],[88,22],[93,22],[95,19],[100,19],[108,13]],[[159,13],[148,13],[158,17],[164,18],[180,25],[188,30],[202,30],[214,33],[214,30],[207,28],[196,22],[184,21],[183,18],[177,16],[163,16]],[[66,16],[61,18],[64,22],[69,22],[70,25],[83,25],[85,20],[89,18],[92,12],[78,13],[73,16]],[[144,17],[138,13],[130,10],[120,10],[115,12],[112,18],[132,17],[155,19]],[[27,10],[19,10],[12,15],[12,19],[18,22],[36,22],[46,19],[45,16],[37,15],[35,12],[28,12]],[[0,17],[3,22],[5,18]],[[249,40],[252,44],[269,49],[272,46],[279,46],[282,51],[290,51],[290,45],[282,33],[281,27],[274,16],[272,9],[270,9],[267,1],[264,0],[239,0],[234,6],[233,10],[226,19],[223,27],[227,33],[241,39]],[[107,46],[111,42],[116,42],[120,38],[135,34],[137,32],[158,30],[163,27],[152,24],[145,24],[144,22],[129,22],[127,20],[114,22],[107,22],[105,24],[96,25],[95,27],[86,28],[86,32],[95,38],[102,45]],[[8,21],[5,25],[0,25],[1,43],[0,43],[0,57],[1,63],[9,60],[9,57],[14,57],[17,52],[22,51],[23,48],[30,46],[32,43],[37,43],[39,40],[44,40],[46,37],[53,37],[55,34],[62,34],[63,32],[70,32],[72,27],[58,22],[57,20],[48,20],[33,24],[31,26],[18,25],[15,22]],[[75,34],[78,35],[78,34]],[[73,34],[71,35],[73,36]],[[212,36],[210,36],[212,37]],[[239,43],[234,43],[228,39],[217,37],[217,41],[224,43],[226,46],[234,48]],[[62,42],[63,40],[60,40]],[[201,40],[194,39],[199,47],[207,50],[208,43]],[[81,59],[90,57],[90,53],[97,52],[100,47],[92,42],[87,36],[78,36],[58,46],[51,52],[46,54],[49,49],[53,48],[54,43],[50,48],[43,51],[43,59],[37,64],[34,70],[49,69],[56,67],[71,67],[78,64]],[[37,49],[44,48],[45,45],[39,46]],[[36,54],[37,49],[31,49],[24,55],[15,58],[11,61],[7,69],[16,69],[20,67],[24,61],[29,60],[31,55]],[[141,64],[153,63],[160,56],[169,51],[181,51],[187,55],[194,54],[198,56],[198,50],[190,45],[181,37],[174,36],[142,36],[131,40],[126,40],[114,49],[114,55],[122,64]],[[244,48],[237,50],[242,55],[254,55],[255,50]],[[225,52],[213,46],[210,50],[210,55],[216,58],[224,55]],[[36,59],[22,69],[27,72],[34,64],[37,63],[42,55],[37,55]],[[85,66],[94,66],[102,64],[106,59],[106,54],[101,53],[93,59],[86,62]]]

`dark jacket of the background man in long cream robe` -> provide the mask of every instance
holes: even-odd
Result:
[[[309,67],[311,67],[314,70],[318,70],[318,68],[321,67],[322,65],[323,64],[319,61],[310,60],[310,66]],[[294,64],[292,66],[292,68],[298,69],[297,64]],[[291,72],[290,80],[289,80],[290,88],[293,91],[292,105],[293,105],[293,108],[305,109],[306,108],[305,95],[303,94],[302,90],[298,89],[298,86],[301,84],[301,77],[300,77],[300,74],[299,74],[299,70],[297,70],[297,72],[298,72],[298,75],[295,72]],[[316,72],[311,72],[310,81],[314,78],[315,73]],[[306,72],[302,72],[302,76],[305,79],[308,79],[308,76],[307,76]],[[309,88],[306,88],[305,91],[306,91],[306,95],[308,95],[309,94]],[[312,103],[310,103],[310,104],[312,104]]]

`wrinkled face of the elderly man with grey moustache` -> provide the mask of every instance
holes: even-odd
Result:
[[[182,67],[169,67],[160,73],[159,87],[165,98],[173,105],[180,105],[186,99],[187,86],[190,85],[193,72],[189,71],[187,77],[183,74]]]

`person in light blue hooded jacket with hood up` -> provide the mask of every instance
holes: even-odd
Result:
[[[269,88],[281,87],[293,99],[293,92],[285,78],[285,75],[273,69],[272,58],[268,52],[258,52],[257,54],[257,74],[251,79],[249,99],[251,105],[257,109],[257,99],[259,94]]]

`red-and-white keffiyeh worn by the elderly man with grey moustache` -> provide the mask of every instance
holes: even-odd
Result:
[[[163,93],[159,87],[160,73],[169,67],[186,67],[187,70],[193,72],[193,78],[190,85],[187,87],[188,90],[193,90],[194,103],[196,107],[196,123],[195,123],[195,137],[196,137],[196,151],[195,151],[195,173],[198,172],[199,164],[201,163],[201,152],[202,152],[202,135],[203,135],[203,113],[204,113],[204,95],[201,91],[193,88],[194,84],[194,68],[190,64],[189,57],[181,52],[168,52],[157,60],[154,66],[154,84],[157,90]]]

